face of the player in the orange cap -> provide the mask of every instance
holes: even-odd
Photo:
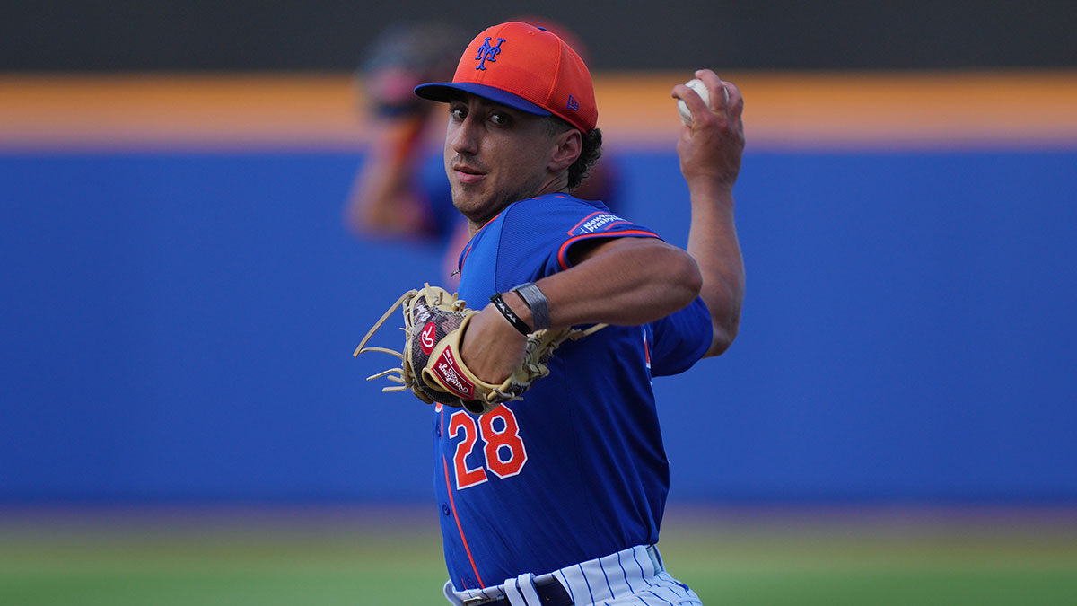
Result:
[[[445,171],[453,205],[473,226],[510,203],[560,191],[549,170],[556,150],[540,116],[474,95],[449,102]]]

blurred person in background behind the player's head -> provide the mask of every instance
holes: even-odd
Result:
[[[513,20],[553,31],[587,61],[583,43],[564,26],[533,16]],[[359,236],[444,242],[442,279],[450,290],[459,283],[457,262],[471,236],[467,221],[452,206],[445,176],[448,112],[444,104],[422,99],[414,89],[451,80],[467,41],[468,33],[451,24],[407,23],[387,28],[366,50],[356,77],[369,144],[344,209],[346,228]],[[602,201],[616,212],[623,206],[616,174],[616,159],[605,150],[573,195]]]

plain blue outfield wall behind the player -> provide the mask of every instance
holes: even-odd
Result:
[[[430,409],[351,352],[440,246],[344,231],[358,161],[0,156],[0,502],[426,499]],[[683,245],[676,156],[617,162]],[[655,384],[671,501],[1077,502],[1077,150],[750,150],[737,195],[741,334]]]

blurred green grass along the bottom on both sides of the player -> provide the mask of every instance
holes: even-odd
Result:
[[[671,573],[708,605],[1077,604],[1077,524],[695,512]],[[443,605],[436,519],[0,515],[0,604]]]

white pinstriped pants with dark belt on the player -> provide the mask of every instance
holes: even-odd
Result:
[[[658,548],[642,545],[538,577],[520,575],[486,589],[456,591],[448,581],[445,597],[454,606],[476,597],[502,596],[513,606],[536,606],[533,583],[551,577],[564,586],[576,606],[702,606],[696,592],[666,571]]]

